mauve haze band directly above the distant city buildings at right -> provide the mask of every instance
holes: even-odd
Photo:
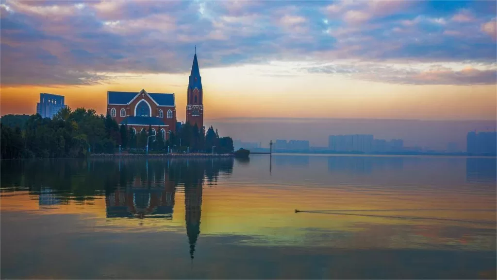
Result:
[[[330,135],[369,134],[375,139],[402,139],[406,147],[466,150],[468,132],[494,132],[497,121],[421,121],[366,119],[237,119],[207,121],[234,140],[257,142],[268,148],[277,139],[309,140],[310,146],[328,147]],[[298,128],[298,129],[295,129]]]

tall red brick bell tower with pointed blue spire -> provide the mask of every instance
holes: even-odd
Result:
[[[204,105],[202,91],[202,77],[198,69],[197,47],[195,46],[195,56],[193,56],[193,65],[191,66],[190,78],[188,81],[187,103],[186,103],[186,122],[204,131]]]

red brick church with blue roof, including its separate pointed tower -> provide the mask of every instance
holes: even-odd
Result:
[[[107,113],[119,125],[127,124],[135,133],[148,131],[152,127],[154,134],[162,134],[167,139],[169,132],[176,130],[176,101],[174,93],[150,93],[107,91]],[[202,77],[198,68],[197,54],[188,81],[186,122],[204,128],[204,106]]]

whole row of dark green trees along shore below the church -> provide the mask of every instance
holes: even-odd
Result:
[[[212,127],[204,135],[199,128],[182,124],[166,140],[162,131],[152,127],[135,131],[127,125],[119,126],[108,114],[97,115],[93,109],[66,107],[57,115],[42,118],[39,114],[5,115],[0,119],[1,158],[85,157],[89,153],[115,153],[122,150],[143,152],[149,136],[150,152],[169,150],[216,153],[233,151],[230,137],[219,137]],[[171,151],[172,151],[171,150]]]

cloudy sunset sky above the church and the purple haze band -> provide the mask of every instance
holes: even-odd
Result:
[[[495,1],[0,1],[1,115],[175,93],[204,117],[496,120]],[[61,27],[63,26],[63,27]],[[178,121],[185,121],[182,117]],[[359,132],[357,132],[359,133]]]

